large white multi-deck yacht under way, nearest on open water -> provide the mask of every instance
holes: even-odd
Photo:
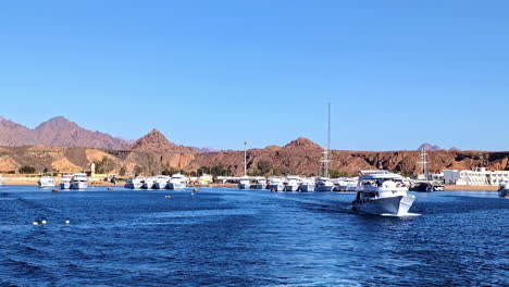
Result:
[[[388,171],[360,171],[352,209],[376,215],[407,215],[415,197],[408,194],[402,179]]]

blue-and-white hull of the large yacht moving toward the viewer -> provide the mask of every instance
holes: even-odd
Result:
[[[413,196],[398,196],[377,199],[355,200],[352,202],[353,210],[369,214],[390,214],[401,216],[408,214],[408,210],[412,207]]]

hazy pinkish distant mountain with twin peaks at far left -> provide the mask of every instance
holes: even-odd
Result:
[[[92,132],[57,116],[34,129],[2,117],[0,121],[0,146],[54,146],[120,149],[127,141],[100,132]]]

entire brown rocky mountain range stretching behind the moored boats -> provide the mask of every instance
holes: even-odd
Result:
[[[157,174],[164,170],[185,172],[206,170],[222,171],[233,175],[244,173],[243,151],[215,151],[200,153],[195,148],[177,146],[167,140],[157,129],[136,140],[132,145],[116,148],[123,141],[104,136],[107,148],[86,148],[78,142],[98,145],[98,138],[104,134],[83,130],[65,118],[53,118],[35,129],[17,125],[11,121],[0,122],[0,137],[4,147],[0,147],[0,172],[17,171],[29,165],[37,171],[79,172],[88,170],[92,162],[104,173],[144,172]],[[50,145],[34,145],[34,130],[45,133],[35,137]],[[61,134],[51,135],[54,130]],[[10,138],[12,136],[12,139]],[[11,141],[9,141],[11,140]],[[24,142],[24,144],[22,144]],[[59,144],[67,147],[51,147]],[[16,145],[28,145],[12,147]],[[73,146],[74,145],[74,146]],[[8,147],[5,147],[8,146]],[[99,146],[99,145],[98,145]],[[108,148],[115,147],[115,148]],[[405,173],[419,172],[420,151],[345,151],[333,150],[332,170],[355,175],[359,170],[383,167]],[[306,138],[293,140],[284,147],[269,146],[263,149],[250,149],[247,152],[248,169],[251,174],[301,174],[319,175],[323,149]],[[429,152],[430,170],[472,169],[483,165],[489,170],[509,170],[509,152],[480,152],[460,150],[437,150]]]

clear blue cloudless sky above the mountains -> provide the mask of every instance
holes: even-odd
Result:
[[[241,149],[509,150],[508,1],[4,1],[0,115]]]

